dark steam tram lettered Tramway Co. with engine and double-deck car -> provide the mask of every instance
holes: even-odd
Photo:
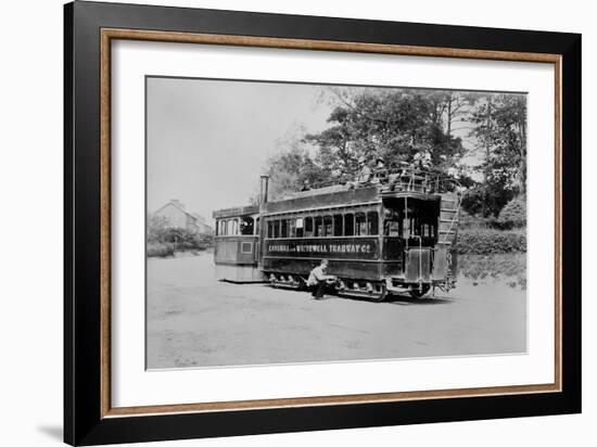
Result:
[[[377,173],[363,186],[333,184],[214,212],[218,279],[303,289],[322,258],[341,295],[420,298],[456,283],[458,184],[418,169]]]

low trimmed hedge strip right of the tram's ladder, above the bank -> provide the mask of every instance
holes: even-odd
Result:
[[[462,230],[458,233],[458,253],[491,255],[497,253],[525,253],[526,231],[496,229]]]

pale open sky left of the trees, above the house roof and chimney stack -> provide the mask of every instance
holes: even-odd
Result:
[[[151,77],[147,89],[148,210],[178,199],[207,222],[247,204],[280,142],[331,112],[312,85]]]

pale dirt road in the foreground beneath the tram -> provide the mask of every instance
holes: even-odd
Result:
[[[212,256],[148,263],[148,367],[523,353],[525,292],[506,283],[370,303],[214,279]]]

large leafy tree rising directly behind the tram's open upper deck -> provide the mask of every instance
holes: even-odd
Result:
[[[330,89],[330,94],[335,104],[331,126],[305,140],[320,148],[317,159],[332,171],[352,177],[360,156],[381,156],[392,167],[412,163],[417,153],[429,153],[432,165],[445,169],[463,154],[460,138],[446,133],[444,126],[449,104],[458,102],[450,123],[462,111],[463,100],[456,100],[456,93]]]

